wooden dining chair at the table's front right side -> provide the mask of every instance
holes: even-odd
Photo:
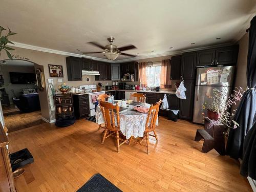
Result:
[[[149,136],[155,137],[156,140],[158,141],[155,129],[156,129],[156,120],[157,120],[158,112],[159,112],[159,106],[160,106],[161,102],[162,102],[162,100],[159,99],[159,101],[156,102],[154,105],[151,104],[150,110],[148,110],[148,114],[147,114],[147,118],[146,118],[144,136],[140,139],[140,141],[133,141],[133,137],[131,137],[129,140],[129,144],[131,142],[135,142],[136,144],[146,147],[147,154],[150,154]],[[150,132],[154,132],[154,135],[151,135]],[[142,141],[145,138],[146,138],[146,145],[142,144]]]

